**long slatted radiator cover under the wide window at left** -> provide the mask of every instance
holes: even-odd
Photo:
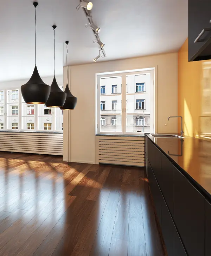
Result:
[[[63,133],[0,132],[0,151],[63,155]]]

